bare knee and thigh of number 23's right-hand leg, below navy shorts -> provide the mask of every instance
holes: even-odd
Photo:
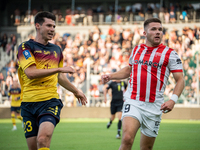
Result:
[[[47,121],[40,124],[37,136],[38,148],[50,147],[53,131],[54,131],[53,123]]]

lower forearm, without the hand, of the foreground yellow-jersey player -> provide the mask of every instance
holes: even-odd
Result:
[[[58,83],[72,93],[78,93],[78,89],[67,79],[63,73],[58,75]]]

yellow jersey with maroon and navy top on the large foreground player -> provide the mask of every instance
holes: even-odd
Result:
[[[59,46],[51,43],[43,45],[30,39],[19,46],[17,58],[23,102],[39,102],[59,98],[56,86],[58,74],[29,79],[24,73],[25,69],[33,64],[37,69],[63,67],[63,55]]]

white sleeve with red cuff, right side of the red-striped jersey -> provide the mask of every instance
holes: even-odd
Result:
[[[172,51],[170,56],[169,56],[169,64],[168,67],[172,73],[174,72],[183,72],[183,65],[182,61],[179,58],[178,54],[176,51]]]

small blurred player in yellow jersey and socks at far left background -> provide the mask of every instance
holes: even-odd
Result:
[[[13,85],[8,92],[8,99],[11,101],[11,120],[13,124],[13,131],[17,130],[15,115],[18,119],[22,121],[22,117],[20,115],[20,106],[21,106],[21,89],[19,87],[18,81],[14,80]]]

